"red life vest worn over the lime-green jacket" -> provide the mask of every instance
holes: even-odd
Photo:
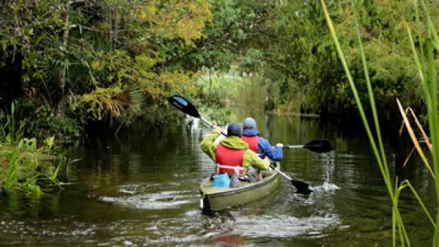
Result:
[[[225,172],[227,174],[233,174],[236,172],[242,175],[244,172],[244,152],[246,150],[235,150],[233,148],[226,148],[221,143],[217,146],[216,160],[217,160],[217,173]]]

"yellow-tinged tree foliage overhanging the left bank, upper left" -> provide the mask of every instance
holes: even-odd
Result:
[[[3,1],[0,69],[22,68],[3,88],[24,82],[21,91],[59,121],[69,112],[82,121],[89,112],[130,124],[143,104],[195,92],[194,71],[167,62],[193,47],[209,21],[206,0]],[[124,94],[133,102],[119,105]],[[102,118],[106,113],[111,118]]]

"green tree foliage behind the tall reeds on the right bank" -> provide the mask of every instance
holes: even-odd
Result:
[[[353,14],[350,1],[328,1],[331,18],[341,38],[346,62],[357,82],[360,95],[368,95],[361,75],[359,48],[353,46]],[[432,14],[438,14],[438,3],[431,3]],[[394,99],[421,108],[422,98],[412,64],[405,25],[415,25],[412,2],[357,1],[359,30],[369,62],[370,80],[375,85],[377,106],[381,115],[393,110]],[[389,11],[390,10],[390,11]],[[290,108],[330,115],[351,113],[356,108],[351,89],[344,83],[346,75],[337,59],[331,36],[327,32],[322,8],[317,1],[290,1],[278,6],[278,17],[272,20],[276,42],[265,50],[264,58],[274,58],[273,69],[279,77],[277,104]],[[436,25],[437,26],[437,25]],[[278,64],[278,66],[276,66]],[[300,96],[300,100],[297,96]],[[368,100],[367,97],[362,99]],[[371,109],[365,105],[366,112]]]

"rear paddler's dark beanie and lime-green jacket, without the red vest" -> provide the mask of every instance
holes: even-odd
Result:
[[[225,148],[232,150],[244,150],[244,157],[242,162],[242,167],[244,171],[241,175],[245,176],[249,167],[254,167],[259,170],[268,170],[270,161],[263,160],[259,156],[250,150],[248,143],[241,139],[241,125],[237,123],[232,123],[227,128],[227,137],[219,142],[215,142],[217,137],[222,132],[221,127],[215,127],[215,129],[207,134],[206,137],[200,143],[201,150],[209,156],[215,163],[217,163],[217,148],[219,143],[221,143]],[[259,174],[260,175],[260,174]],[[261,180],[259,176],[258,180]]]

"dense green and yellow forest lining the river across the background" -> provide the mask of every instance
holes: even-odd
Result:
[[[367,100],[351,1],[327,5]],[[405,29],[415,29],[415,7],[357,1],[383,117],[394,117],[396,97],[425,110]],[[92,122],[153,126],[172,117],[163,108],[174,93],[225,107],[250,88],[245,102],[266,110],[356,111],[319,1],[2,1],[0,43],[2,138],[79,137]]]

